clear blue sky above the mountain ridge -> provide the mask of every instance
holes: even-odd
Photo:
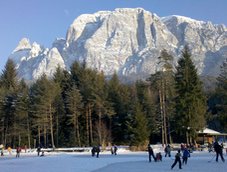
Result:
[[[136,7],[160,17],[182,15],[227,26],[227,0],[1,0],[0,73],[24,37],[50,48],[81,14]]]

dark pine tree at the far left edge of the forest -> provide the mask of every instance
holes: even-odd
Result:
[[[17,102],[18,78],[14,62],[9,59],[0,77],[2,92],[1,119],[2,143],[15,145],[17,132],[15,130],[15,108]]]

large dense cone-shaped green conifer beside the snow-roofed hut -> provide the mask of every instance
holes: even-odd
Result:
[[[176,116],[173,125],[186,133],[187,143],[196,137],[196,131],[205,126],[206,101],[202,83],[186,46],[178,61],[176,81]]]

